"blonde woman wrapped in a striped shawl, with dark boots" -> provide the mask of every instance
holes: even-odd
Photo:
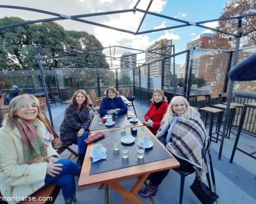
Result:
[[[175,96],[170,101],[156,137],[180,163],[177,169],[193,171],[199,180],[205,179],[207,172],[202,151],[206,150],[208,135],[197,108],[190,107],[186,98]],[[144,198],[155,196],[158,186],[167,176],[168,170],[151,173],[150,183],[138,194]]]

